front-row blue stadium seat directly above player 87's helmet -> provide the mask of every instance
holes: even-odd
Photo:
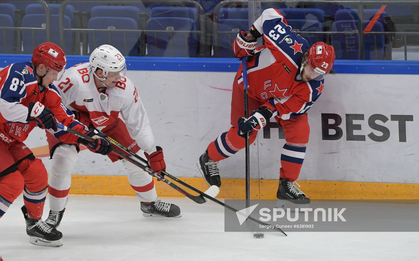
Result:
[[[26,15],[23,16],[22,26],[23,27],[35,27],[35,28],[45,28],[46,18],[45,15]],[[71,21],[68,16],[64,16],[64,28],[71,28]],[[47,41],[47,32],[46,31],[34,31],[34,39],[32,39],[32,31],[24,30],[22,31],[22,41],[23,41],[23,52],[32,53],[33,49],[39,44]],[[74,45],[74,34],[72,32],[65,32],[65,53],[72,52]],[[51,15],[51,41],[55,44],[60,45],[59,40],[59,28],[58,28],[58,15]]]

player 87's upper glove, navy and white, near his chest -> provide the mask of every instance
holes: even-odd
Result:
[[[26,121],[35,121],[41,129],[53,129],[57,131],[57,121],[55,120],[54,114],[49,109],[45,108],[42,103],[37,101],[36,103],[29,103],[28,118]]]

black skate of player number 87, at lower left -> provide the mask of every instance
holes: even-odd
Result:
[[[47,225],[41,218],[28,217],[28,211],[24,205],[21,209],[26,221],[26,234],[29,236],[29,243],[52,247],[62,246],[61,232]]]

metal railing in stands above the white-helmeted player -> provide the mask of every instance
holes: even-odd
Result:
[[[139,34],[139,39],[142,38],[142,34],[143,33],[155,33],[156,34],[161,34],[161,33],[169,33],[171,34],[175,34],[175,33],[185,33],[185,35],[187,36],[187,34],[199,34],[199,55],[200,56],[204,56],[205,54],[205,47],[206,47],[206,27],[205,27],[205,13],[204,13],[204,9],[202,8],[202,6],[194,1],[194,0],[142,0],[142,1],[137,1],[137,0],[103,0],[101,1],[101,4],[135,4],[135,3],[142,3],[142,4],[165,4],[165,5],[194,5],[195,8],[197,8],[197,10],[199,11],[199,31],[164,31],[164,30],[144,30],[144,29],[138,29],[138,30],[122,30],[122,29],[66,29],[64,28],[64,8],[71,3],[74,2],[79,2],[78,0],[65,0],[61,3],[61,6],[59,8],[59,36],[60,36],[60,41],[61,41],[61,47],[63,49],[65,49],[65,31],[72,31],[72,32],[77,32],[78,34],[83,33],[82,36],[82,42],[83,42],[83,53],[82,54],[88,54],[88,49],[87,49],[87,42],[88,42],[88,37],[87,37],[87,33],[88,32],[108,32],[109,33],[109,37],[111,35],[111,33],[124,33],[124,37],[126,37],[127,33],[137,33]],[[83,0],[83,3],[97,3],[96,0]],[[79,38],[80,39],[80,38]],[[156,41],[157,42],[157,41]],[[126,45],[126,42],[125,42]],[[76,43],[77,46],[77,43]],[[188,41],[186,41],[186,48],[188,46]],[[77,50],[76,50],[77,52]],[[189,51],[187,50],[187,52],[189,53]],[[127,53],[127,52],[126,52]]]

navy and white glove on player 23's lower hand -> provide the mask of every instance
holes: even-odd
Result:
[[[258,131],[266,126],[266,123],[272,117],[272,111],[268,107],[261,106],[259,109],[254,110],[248,119],[243,117],[238,119],[239,135],[250,132],[252,129]]]

